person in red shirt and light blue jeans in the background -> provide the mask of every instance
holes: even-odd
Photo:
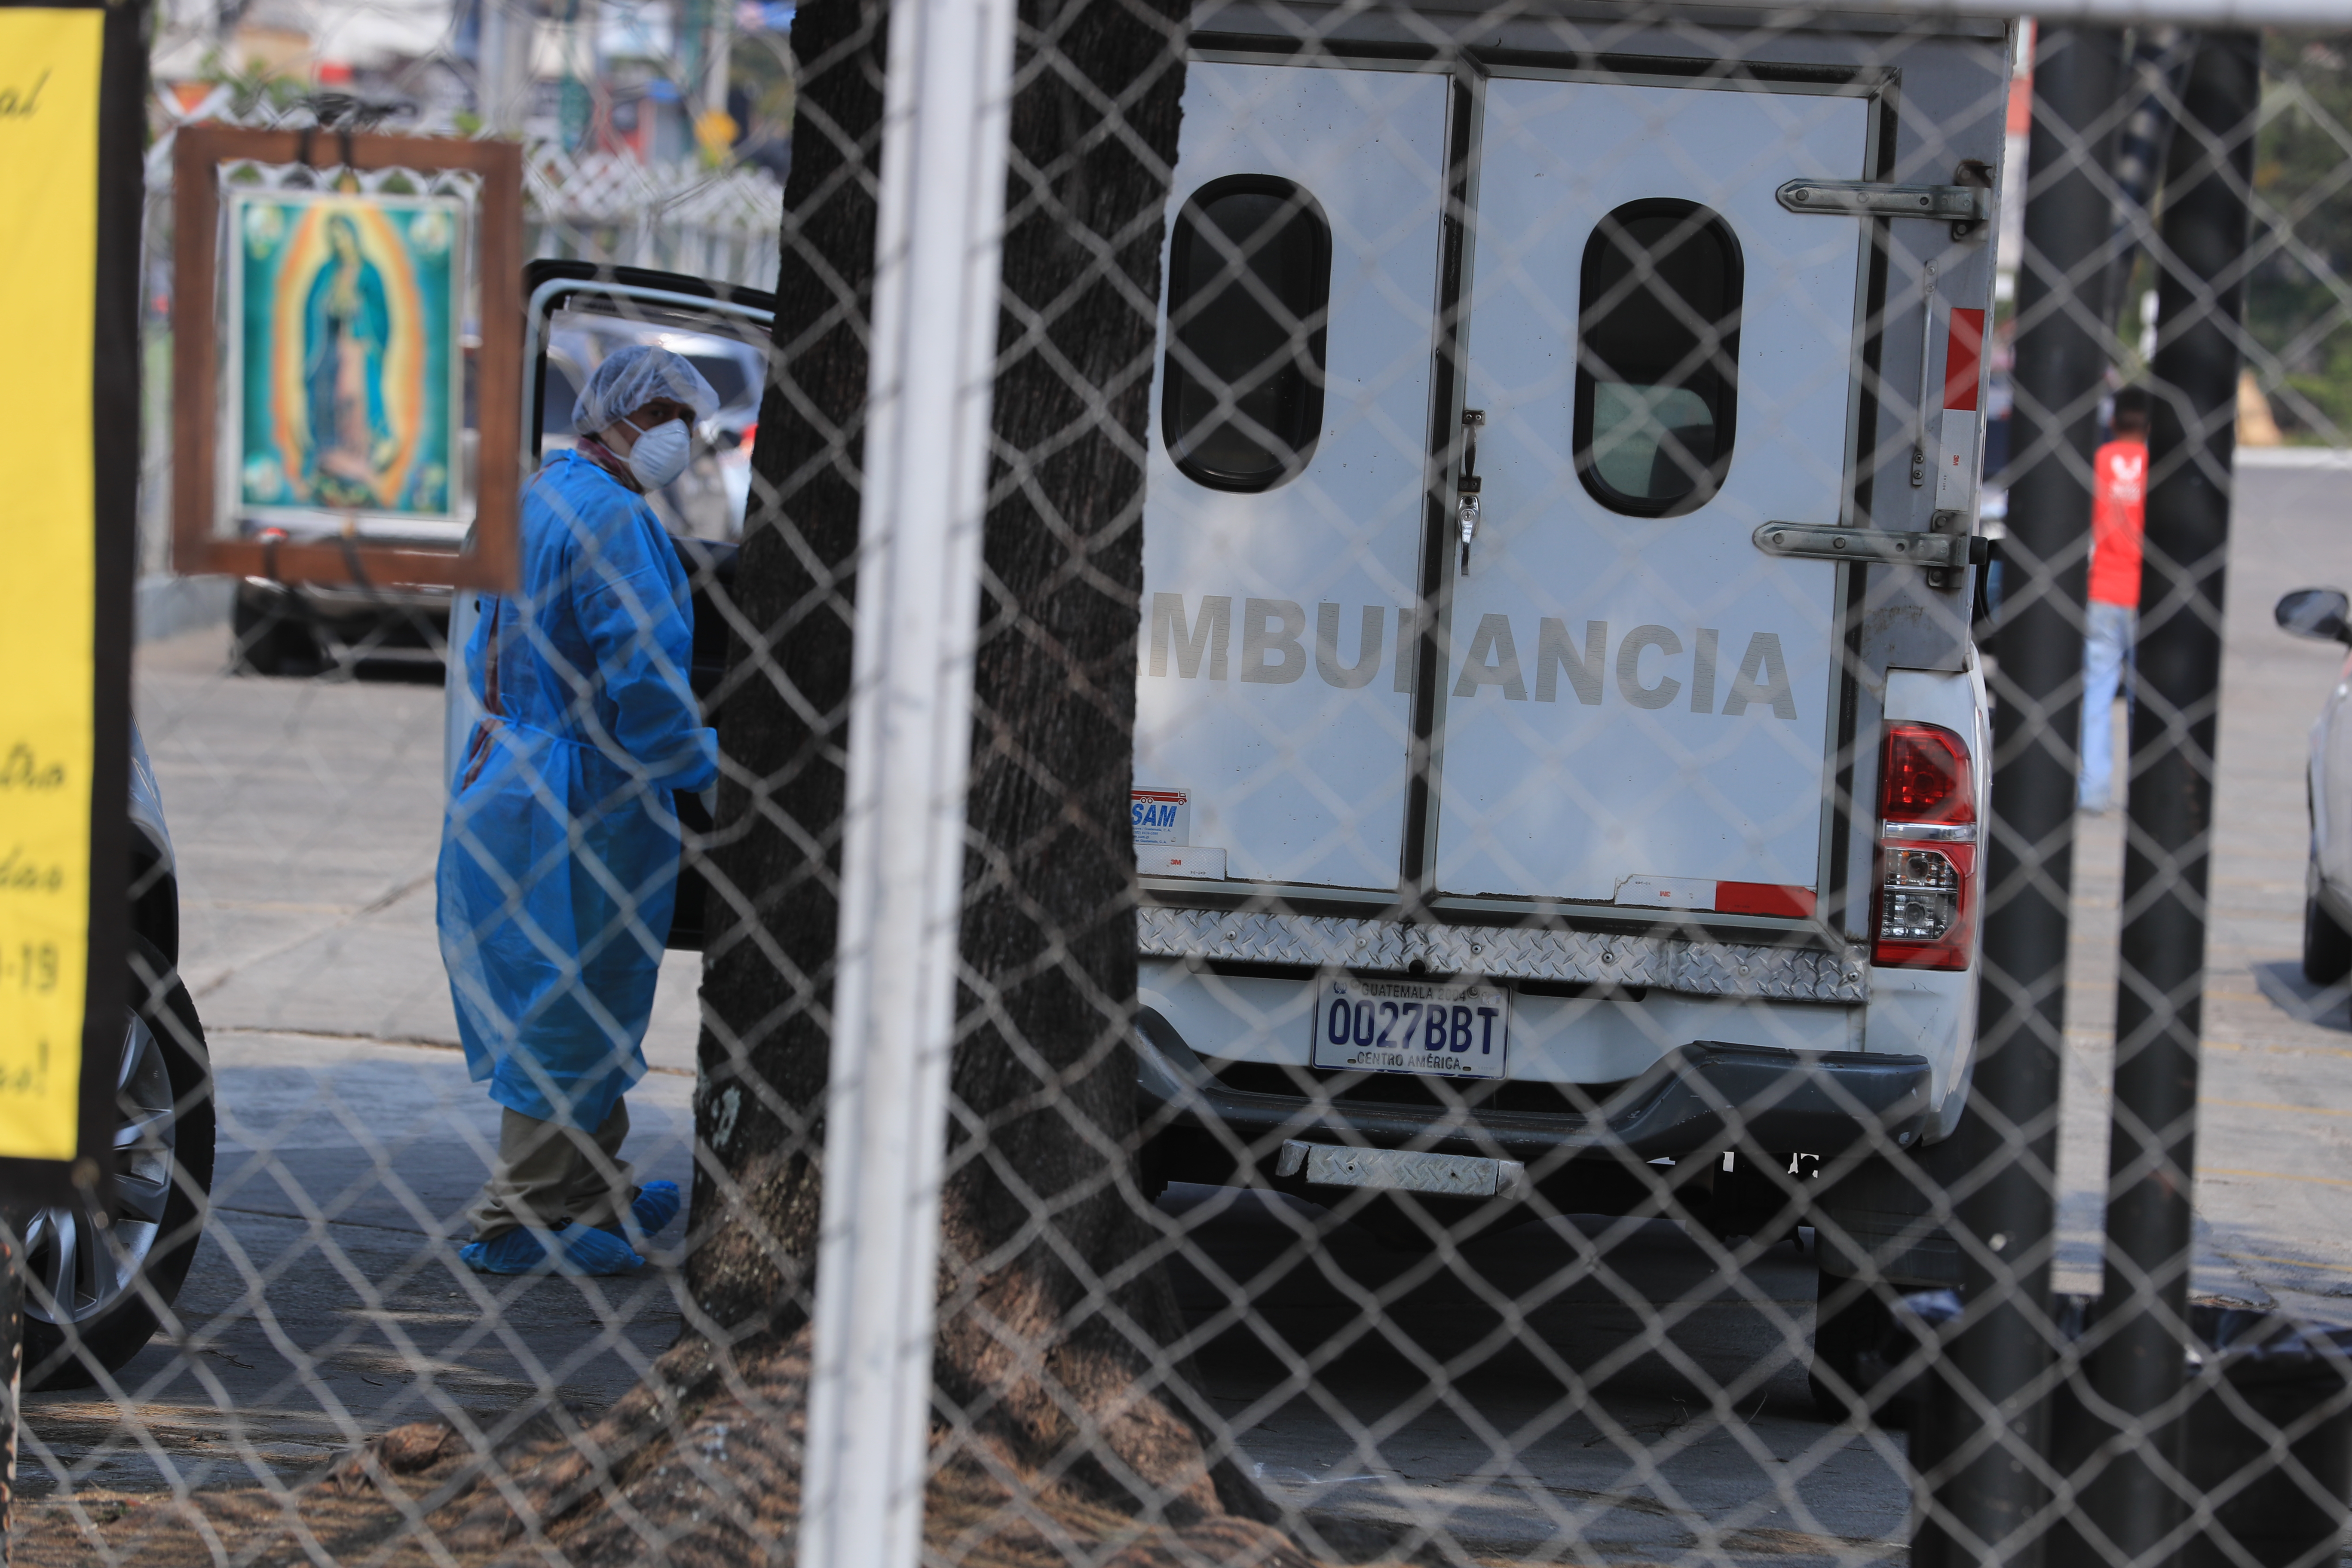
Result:
[[[2114,395],[2114,440],[2091,458],[2091,604],[2082,649],[2084,811],[2114,806],[2114,693],[2140,623],[2140,534],[2147,527],[2147,393]],[[2129,696],[2129,689],[2126,689]]]

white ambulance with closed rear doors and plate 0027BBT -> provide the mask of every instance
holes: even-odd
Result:
[[[1197,19],[1136,663],[1155,1185],[1435,1241],[1670,1182],[1740,1229],[1778,1192],[1738,1157],[1962,1114],[2011,38],[1623,16]]]

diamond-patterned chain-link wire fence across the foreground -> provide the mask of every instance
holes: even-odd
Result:
[[[826,0],[781,193],[536,141],[515,590],[141,644],[14,1561],[2338,1561],[2352,35],[2216,21]],[[355,531],[421,252],[223,179]]]

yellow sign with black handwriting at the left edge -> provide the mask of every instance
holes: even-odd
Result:
[[[103,21],[0,7],[0,1154],[21,1159],[78,1152]]]

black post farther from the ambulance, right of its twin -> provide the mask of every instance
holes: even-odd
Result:
[[[2114,1004],[2107,1269],[2091,1389],[2138,1427],[2089,1493],[2131,1561],[2171,1561],[2183,1516],[2190,1204],[2204,1006],[2223,569],[2237,440],[2239,317],[2260,101],[2253,33],[2197,40],[2164,172],[2154,421],[2140,578],[2131,827]]]

